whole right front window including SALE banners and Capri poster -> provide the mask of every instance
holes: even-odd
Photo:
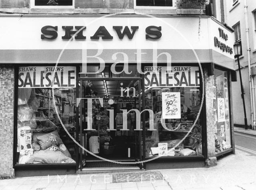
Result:
[[[156,129],[148,130],[150,115],[146,115],[146,157],[202,155],[200,117],[196,121],[201,104],[199,68],[172,68],[174,73],[158,67],[158,72],[145,74],[145,104],[154,113]]]

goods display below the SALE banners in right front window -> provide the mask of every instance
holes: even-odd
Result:
[[[163,99],[165,93],[170,94],[169,96],[176,93],[176,100],[168,99],[166,102]],[[199,88],[152,88],[145,91],[145,95],[147,107],[154,112],[154,129],[156,129],[156,131],[146,131],[146,156],[158,156],[161,143],[167,143],[167,154],[165,156],[202,155],[200,117],[189,133],[200,108]],[[164,109],[163,102],[172,103],[176,109]],[[166,113],[171,113],[171,116],[174,115],[174,117],[180,117],[180,119],[164,119]],[[177,113],[180,116],[177,116]],[[148,128],[149,119],[146,119],[146,130]],[[189,134],[184,139],[187,133]]]

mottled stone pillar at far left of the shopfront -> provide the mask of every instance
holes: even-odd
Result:
[[[14,176],[14,67],[0,64],[0,178]]]

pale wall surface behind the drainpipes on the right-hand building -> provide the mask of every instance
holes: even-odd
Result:
[[[240,21],[241,28],[241,39],[242,39],[242,51],[243,56],[240,58],[240,64],[242,67],[242,81],[244,84],[245,90],[245,101],[246,101],[246,113],[248,118],[248,124],[250,125],[250,89],[249,89],[249,76],[248,76],[248,56],[247,56],[247,44],[246,44],[246,26],[245,26],[245,16],[244,16],[244,0],[238,0],[238,3],[235,6],[232,6],[233,1],[226,1],[227,9],[227,24],[229,26],[234,26],[237,22]],[[256,34],[255,34],[255,24],[253,18],[253,11],[256,10],[256,1],[247,0],[248,5],[248,23],[249,23],[249,43],[250,43],[250,60],[251,65],[256,66]],[[238,69],[237,61],[235,68]],[[242,98],[241,98],[241,89],[240,89],[240,79],[239,73],[237,71],[238,81],[232,82],[232,94],[233,94],[233,110],[234,110],[234,124],[244,124],[244,115],[242,108]],[[239,93],[238,93],[239,92]]]

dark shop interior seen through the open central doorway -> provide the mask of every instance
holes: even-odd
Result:
[[[127,91],[126,87],[130,87],[130,90]],[[82,143],[87,150],[110,160],[134,161],[139,159],[141,131],[134,131],[136,128],[134,111],[127,114],[128,130],[122,131],[124,124],[122,110],[140,109],[142,105],[138,92],[138,80],[82,81],[82,97],[93,98],[91,117],[88,117],[88,107],[90,107],[88,103],[90,102],[87,99],[82,99],[79,107],[82,113],[80,117],[83,130]],[[113,111],[113,115],[110,115],[109,110]],[[94,131],[86,131],[90,119],[92,119]],[[110,131],[110,128],[114,130]],[[87,162],[86,167],[90,161],[101,161],[84,151],[82,159],[84,163]],[[96,162],[93,163],[95,165]]]

